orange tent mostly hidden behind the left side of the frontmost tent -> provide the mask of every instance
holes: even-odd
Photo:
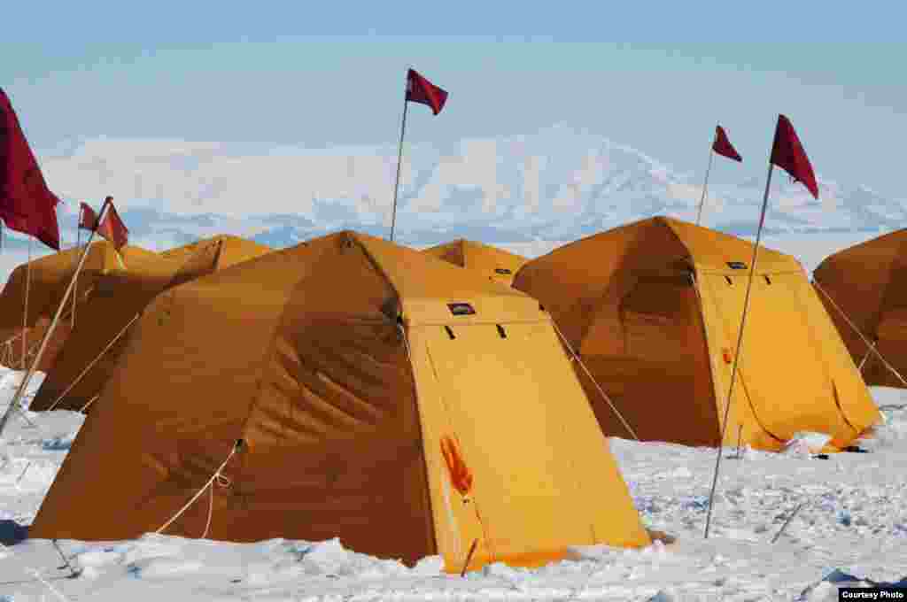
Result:
[[[117,272],[98,280],[89,302],[77,313],[73,334],[57,354],[30,409],[42,412],[53,406],[60,410],[80,410],[101,393],[103,384],[116,368],[129,338],[128,333],[121,334],[123,328],[130,327],[133,318],[155,296],[172,286],[210,274],[219,266],[241,261],[251,255],[250,249],[258,250],[259,255],[270,250],[254,243],[250,246],[229,243],[227,239],[214,237],[200,241],[191,246],[191,254],[158,257],[154,271]],[[61,395],[64,395],[62,399]]]

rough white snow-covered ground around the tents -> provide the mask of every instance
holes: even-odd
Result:
[[[19,377],[0,372],[0,408]],[[26,413],[34,426],[16,416],[0,441],[0,601],[836,600],[847,575],[889,582],[907,576],[907,410],[889,407],[907,403],[907,393],[873,393],[889,422],[863,442],[869,453],[822,460],[746,451],[741,460],[723,461],[707,540],[715,452],[612,440],[645,523],[676,543],[577,549],[575,559],[548,567],[493,565],[466,578],[442,574],[439,558],[405,568],[336,540],[233,544],[155,535],[61,540],[79,572],[68,578],[51,541],[21,539],[82,416]]]

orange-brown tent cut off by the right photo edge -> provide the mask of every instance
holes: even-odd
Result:
[[[853,361],[859,365],[865,358],[862,372],[866,384],[905,388],[876,354],[869,353],[853,326],[907,378],[907,229],[826,257],[815,268],[813,278]],[[853,326],[847,324],[842,312]]]

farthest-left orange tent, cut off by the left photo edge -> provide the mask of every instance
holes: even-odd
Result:
[[[21,366],[23,325],[26,350],[34,350],[40,344],[73,278],[83,249],[84,246],[69,248],[15,267],[0,292],[0,364],[13,368]],[[153,272],[165,263],[157,253],[140,247],[127,245],[118,254],[106,240],[93,242],[73,289],[76,317],[98,279],[127,269],[132,273]],[[25,316],[26,296],[28,316]],[[72,304],[73,296],[70,296],[39,370],[47,371],[54,365],[56,352],[69,336]]]

